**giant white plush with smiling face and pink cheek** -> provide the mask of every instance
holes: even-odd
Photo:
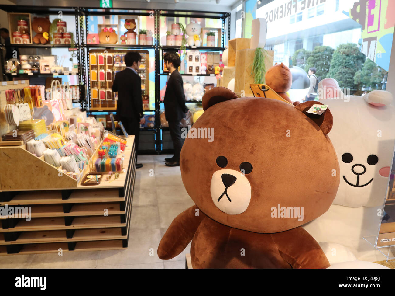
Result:
[[[363,237],[377,235],[382,219],[395,142],[392,95],[380,90],[344,95],[331,78],[318,84],[318,95],[333,115],[329,138],[339,159],[340,185],[329,210],[303,228],[316,241],[347,247],[358,260],[383,260]]]

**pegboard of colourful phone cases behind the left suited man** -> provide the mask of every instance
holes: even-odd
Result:
[[[101,49],[89,51],[89,74],[90,96],[92,108],[117,109],[117,93],[113,93],[111,87],[117,72],[126,68],[124,55],[128,50],[109,49],[103,53]],[[139,75],[141,77],[141,95],[143,109],[149,110],[149,51],[139,50],[141,65]],[[148,101],[145,102],[145,101]]]

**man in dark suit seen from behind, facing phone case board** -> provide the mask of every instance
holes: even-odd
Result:
[[[124,57],[126,69],[115,75],[113,91],[118,91],[117,117],[122,121],[126,132],[135,135],[136,168],[143,167],[137,163],[139,149],[140,124],[145,123],[143,101],[141,98],[141,78],[138,74],[141,55],[137,51],[129,51]]]

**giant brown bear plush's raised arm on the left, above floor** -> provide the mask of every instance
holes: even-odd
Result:
[[[159,258],[169,260],[179,255],[188,246],[199,224],[206,217],[197,205],[186,209],[175,217],[160,240],[158,247]]]

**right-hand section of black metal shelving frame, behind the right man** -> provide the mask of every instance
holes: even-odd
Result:
[[[157,11],[158,15],[158,24],[160,22],[160,17],[190,17],[190,18],[202,18],[202,19],[222,19],[222,36],[221,36],[221,47],[207,47],[207,46],[186,46],[186,50],[205,50],[205,51],[224,51],[225,50],[225,45],[228,44],[228,41],[230,40],[230,13],[228,12],[210,12],[210,11],[194,11],[194,10],[164,10],[164,9],[158,9]],[[228,29],[225,30],[226,25],[228,25]],[[159,28],[159,26],[158,26]],[[227,36],[226,36],[226,33]],[[158,40],[159,40],[159,32],[158,32]],[[158,57],[163,57],[163,51],[179,51],[180,47],[177,46],[158,46],[158,52],[157,55]],[[158,59],[159,60],[159,59]],[[158,69],[159,69],[159,61],[158,61]],[[158,94],[156,95],[156,102],[158,104],[158,110],[156,112],[156,121],[158,122],[158,135],[157,138],[159,139],[159,151],[158,154],[171,154],[174,152],[173,149],[162,149],[163,146],[163,131],[169,131],[168,127],[162,127],[160,125],[160,76],[167,76],[169,75],[168,72],[160,72],[158,71],[156,81],[158,83],[158,86],[156,89],[158,89]],[[181,76],[215,76],[214,74],[181,74]],[[198,103],[201,104],[201,102],[198,101],[186,101],[187,104],[190,103]],[[188,106],[188,105],[187,105]]]

